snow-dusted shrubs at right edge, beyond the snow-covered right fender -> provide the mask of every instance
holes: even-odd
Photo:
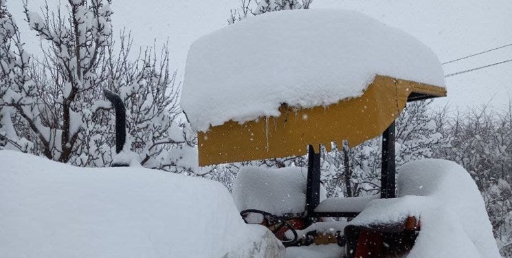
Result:
[[[443,111],[438,125],[449,144],[434,155],[469,171],[484,197],[502,255],[512,257],[512,106]]]

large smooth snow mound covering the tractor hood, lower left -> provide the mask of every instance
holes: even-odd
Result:
[[[0,151],[0,257],[279,257],[217,182]]]

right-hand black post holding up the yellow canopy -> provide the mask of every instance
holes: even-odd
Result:
[[[394,157],[394,121],[382,133],[381,198],[396,197],[396,164]]]

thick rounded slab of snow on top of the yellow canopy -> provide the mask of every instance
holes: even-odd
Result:
[[[413,36],[346,10],[269,12],[195,41],[181,106],[192,127],[278,116],[363,94],[375,76],[443,87],[443,68]]]

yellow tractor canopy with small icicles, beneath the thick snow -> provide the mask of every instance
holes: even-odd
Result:
[[[350,147],[380,136],[408,101],[446,96],[445,87],[375,76],[359,97],[326,107],[280,107],[280,116],[233,120],[199,131],[199,166],[304,155],[308,144],[347,140]],[[313,145],[314,146],[314,145]]]

